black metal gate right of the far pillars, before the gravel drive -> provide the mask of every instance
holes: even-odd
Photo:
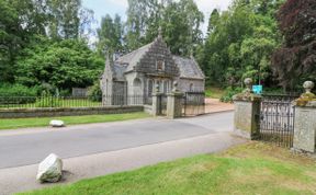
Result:
[[[183,96],[183,115],[198,116],[205,114],[205,93],[185,92]]]

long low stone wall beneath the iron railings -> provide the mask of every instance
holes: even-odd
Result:
[[[144,112],[144,106],[2,110],[0,111],[0,118],[80,116],[80,115],[121,114],[121,113],[135,113],[135,112]]]

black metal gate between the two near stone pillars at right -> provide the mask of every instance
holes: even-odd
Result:
[[[260,139],[292,148],[294,101],[297,95],[263,95],[260,111]]]

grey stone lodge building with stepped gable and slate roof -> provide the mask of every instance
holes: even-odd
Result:
[[[172,55],[159,35],[125,56],[112,61],[108,58],[101,78],[103,104],[150,104],[155,88],[167,94],[173,81],[181,92],[204,92],[205,76],[194,58]]]

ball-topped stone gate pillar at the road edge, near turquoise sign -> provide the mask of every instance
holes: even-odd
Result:
[[[248,139],[257,139],[260,136],[261,96],[252,93],[250,78],[245,79],[245,84],[247,89],[233,97],[235,104],[234,134]]]

